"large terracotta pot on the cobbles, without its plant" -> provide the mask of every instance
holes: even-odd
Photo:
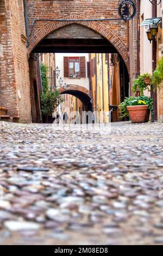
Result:
[[[132,123],[145,123],[148,105],[137,105],[127,107]]]

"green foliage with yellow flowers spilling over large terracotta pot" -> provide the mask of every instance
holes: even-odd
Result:
[[[153,99],[151,97],[144,95],[139,97],[126,97],[124,101],[118,106],[121,117],[129,117],[127,106],[137,105],[148,105],[148,108],[153,111]]]

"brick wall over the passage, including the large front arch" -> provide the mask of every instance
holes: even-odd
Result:
[[[118,15],[118,0],[74,0],[74,1],[45,1],[27,0],[29,28],[32,29],[34,19],[96,19],[96,18],[120,18]],[[29,53],[47,34],[57,28],[73,22],[62,21],[36,21],[30,36]],[[126,22],[115,21],[87,21],[77,22],[87,26],[104,38],[108,39],[122,55],[129,70],[127,53]]]

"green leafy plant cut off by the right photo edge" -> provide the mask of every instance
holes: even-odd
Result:
[[[152,84],[154,90],[163,88],[163,58],[159,61],[158,66],[153,72]]]

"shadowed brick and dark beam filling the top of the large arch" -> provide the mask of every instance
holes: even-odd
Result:
[[[36,53],[118,53],[114,45],[91,28],[73,23],[49,33],[36,45]]]

